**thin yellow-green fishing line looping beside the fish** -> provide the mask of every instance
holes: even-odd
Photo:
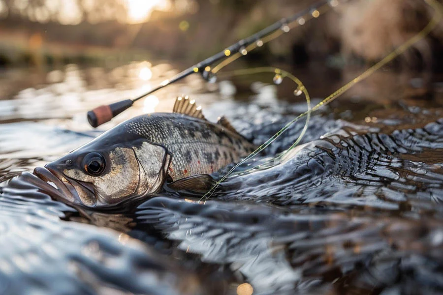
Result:
[[[398,56],[400,56],[404,52],[406,52],[406,50],[410,49],[413,44],[415,44],[416,42],[418,42],[418,41],[422,40],[423,38],[425,38],[433,29],[435,29],[437,27],[438,23],[442,20],[443,6],[440,3],[438,3],[436,0],[424,0],[424,1],[434,9],[434,16],[432,17],[432,19],[429,21],[429,23],[421,31],[419,31],[417,34],[412,36],[409,40],[407,40],[405,43],[403,43],[402,45],[397,47],[395,50],[390,52],[386,57],[384,57],[379,62],[377,62],[376,64],[371,66],[369,69],[364,71],[362,74],[360,74],[356,78],[352,79],[347,84],[345,84],[344,86],[342,86],[341,88],[337,89],[335,92],[333,92],[332,94],[327,96],[321,102],[316,104],[316,106],[314,106],[312,109],[311,109],[311,104],[310,104],[310,98],[309,98],[308,91],[303,86],[303,83],[298,78],[296,78],[295,76],[290,74],[289,72],[286,72],[286,71],[283,71],[283,70],[280,70],[280,69],[269,68],[269,67],[233,71],[232,73],[236,74],[236,75],[253,74],[253,73],[260,73],[260,72],[269,72],[270,69],[274,69],[274,71],[275,70],[281,71],[282,75],[285,75],[285,77],[290,78],[295,83],[297,83],[298,87],[303,89],[302,91],[305,94],[306,100],[307,100],[307,103],[308,103],[308,111],[306,111],[306,112],[300,114],[299,116],[297,116],[296,118],[292,119],[282,129],[280,129],[276,134],[274,134],[269,140],[267,140],[263,145],[261,145],[260,147],[255,149],[246,158],[244,158],[242,161],[240,161],[239,163],[234,165],[234,167],[232,167],[223,177],[221,177],[221,179],[219,181],[217,181],[216,184],[214,184],[214,186],[200,200],[203,200],[204,198],[208,199],[214,193],[214,191],[217,189],[217,187],[220,185],[220,183],[222,181],[224,181],[232,172],[234,172],[235,169],[237,169],[240,165],[244,164],[246,161],[249,161],[250,159],[252,159],[260,151],[262,151],[264,148],[268,147],[273,141],[275,141],[280,135],[282,135],[283,132],[285,132],[294,122],[298,121],[300,118],[303,118],[305,116],[307,116],[307,122],[308,122],[312,112],[315,112],[320,107],[322,107],[324,105],[327,105],[328,103],[332,102],[338,96],[340,96],[343,93],[345,93],[346,91],[348,91],[348,89],[350,89],[352,86],[354,86],[355,84],[357,84],[357,83],[361,82],[362,80],[368,78],[369,76],[374,74],[374,72],[379,70],[381,67],[383,67],[384,65],[386,65],[387,63],[389,63],[393,59],[397,58]],[[277,33],[280,33],[280,34],[277,35]],[[273,39],[277,38],[281,34],[282,34],[281,31],[276,32],[276,36]],[[273,34],[269,35],[269,37],[271,37],[271,36],[273,36]],[[270,40],[273,40],[273,39],[270,39]],[[256,47],[257,44],[256,43],[255,44],[251,44],[250,46],[255,46]],[[255,48],[255,47],[253,47],[253,48]],[[238,54],[240,54],[240,56],[242,56],[241,52],[239,52],[239,53],[233,55],[231,59],[223,60],[219,65],[214,67],[212,72],[215,74],[216,72],[220,71],[223,67],[225,67],[230,62],[234,61],[235,59],[238,59],[240,57],[240,56],[236,57]],[[276,73],[276,74],[278,74],[278,73]],[[294,142],[294,144],[292,144],[292,146],[290,148],[288,148],[285,152],[283,152],[280,157],[283,157],[287,152],[289,152],[292,148],[294,148],[300,142],[302,136],[306,132],[306,128],[307,128],[307,123],[305,123],[305,126],[303,127],[302,133],[297,138],[297,140]]]

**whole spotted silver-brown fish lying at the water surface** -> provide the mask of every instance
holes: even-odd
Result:
[[[178,96],[172,113],[122,122],[34,175],[69,202],[102,207],[164,188],[203,194],[215,184],[209,174],[255,148],[225,117],[212,123],[195,100]]]

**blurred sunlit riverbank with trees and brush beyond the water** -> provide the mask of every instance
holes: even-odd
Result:
[[[260,61],[272,57],[299,65],[338,53],[374,61],[422,29],[434,13],[424,0],[337,2],[333,13],[266,46]],[[148,57],[196,62],[313,3],[0,0],[0,65],[109,64]],[[441,37],[439,28],[415,47],[418,54],[411,53],[408,62],[422,66],[420,61],[441,46]]]

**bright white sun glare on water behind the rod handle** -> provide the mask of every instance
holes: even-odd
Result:
[[[70,64],[63,71],[49,72],[46,81],[50,84],[36,84],[19,91],[12,99],[0,100],[0,122],[58,119],[58,123],[69,129],[87,130],[89,126],[84,114],[88,110],[100,104],[137,97],[152,89],[153,85],[160,84],[165,76],[170,77],[176,72],[169,65],[151,67],[149,62],[132,63],[112,70],[80,69]],[[192,81],[195,79],[189,79],[189,82]],[[199,88],[195,86],[197,84],[193,83],[192,90],[198,91]],[[164,103],[158,102],[161,104],[160,110],[169,111],[170,102],[184,90],[192,94],[190,88],[180,84],[158,91],[156,97],[165,100]],[[145,113],[144,109],[152,112],[156,105],[152,96],[103,126],[103,129]]]

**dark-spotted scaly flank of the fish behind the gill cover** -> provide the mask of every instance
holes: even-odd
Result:
[[[133,118],[123,126],[164,145],[172,153],[170,176],[176,180],[212,173],[254,150],[242,136],[204,119],[176,113],[154,113]],[[191,154],[191,157],[185,156]],[[172,170],[172,171],[171,171]]]

